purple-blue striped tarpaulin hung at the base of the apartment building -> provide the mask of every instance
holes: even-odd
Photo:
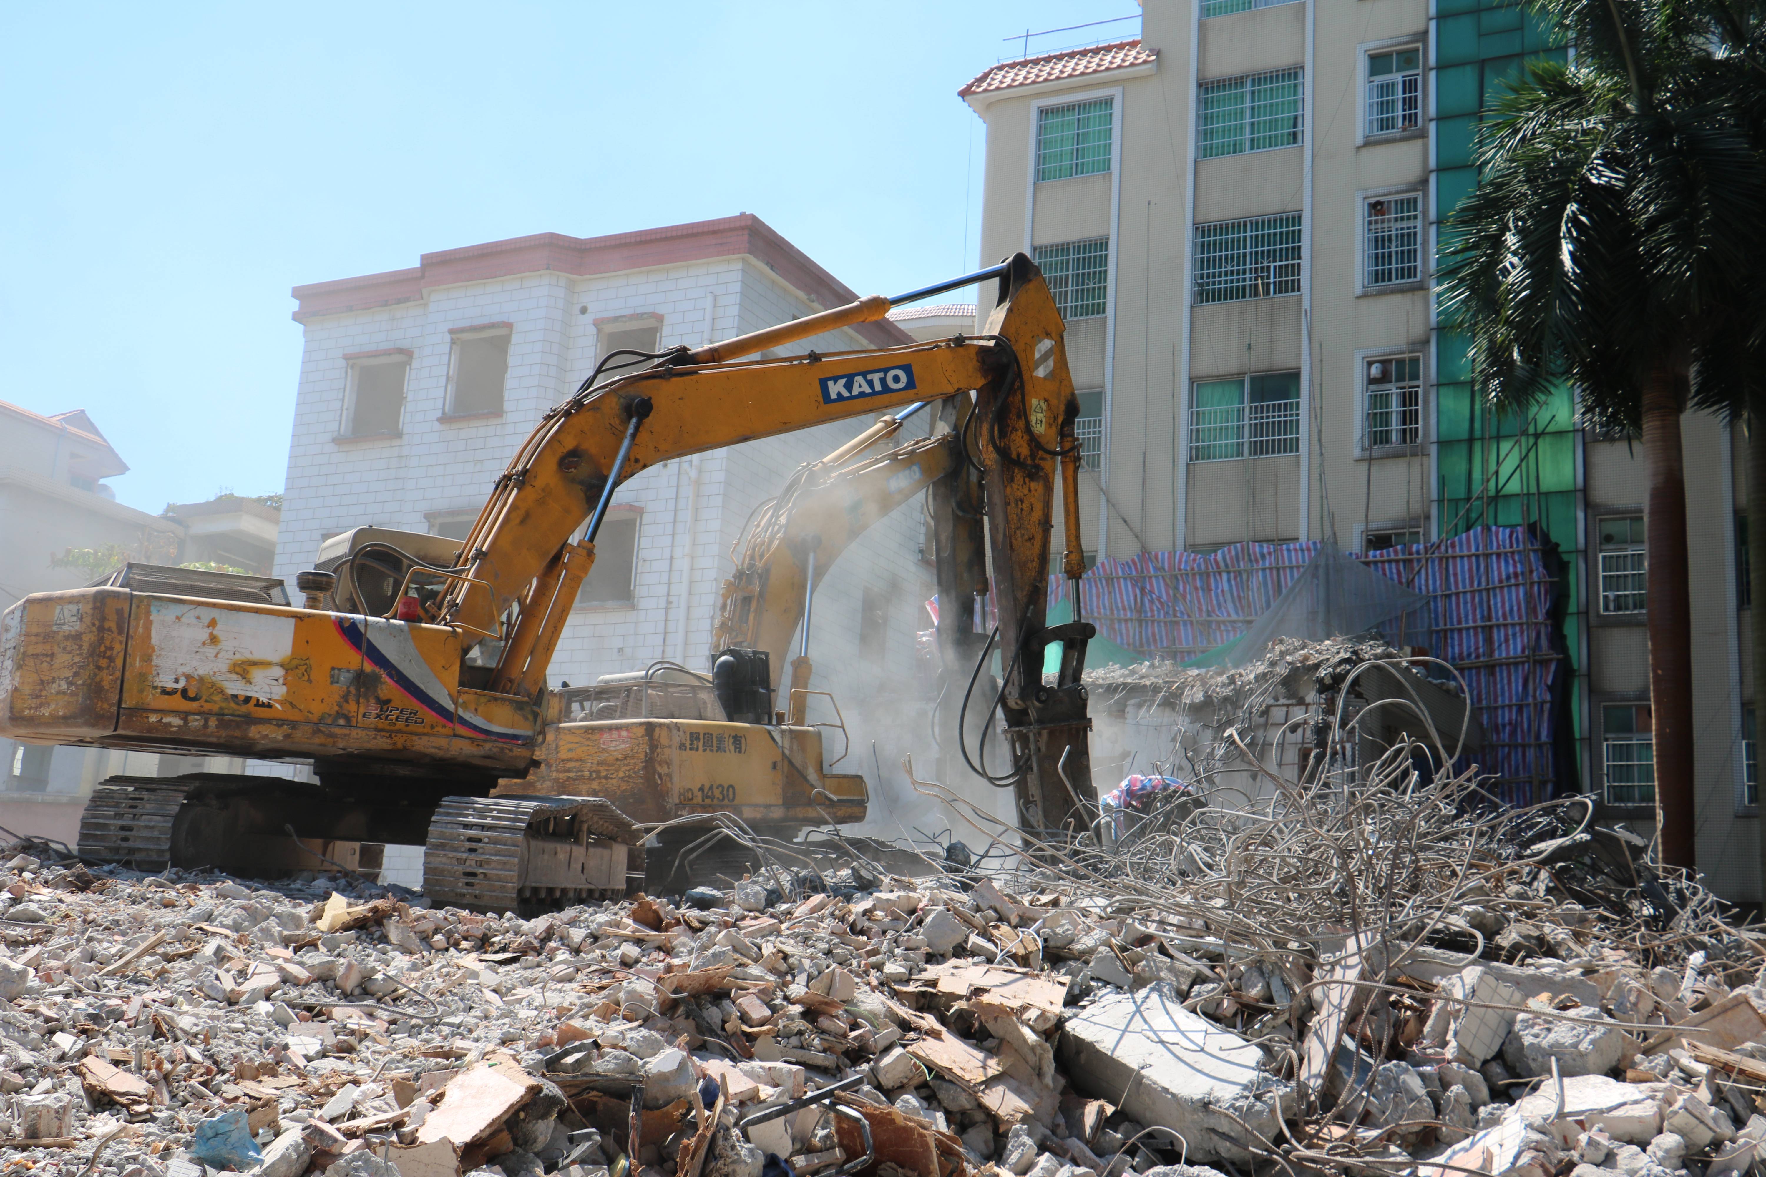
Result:
[[[1100,559],[1079,582],[1086,621],[1130,649],[1187,660],[1243,633],[1317,552],[1309,544],[1234,544],[1217,552],[1141,552]],[[1551,794],[1551,593],[1538,542],[1526,528],[1475,528],[1439,547],[1360,556],[1425,593],[1430,653],[1466,679],[1483,722],[1480,766],[1510,805]],[[1049,600],[1067,579],[1049,577]],[[1386,635],[1400,642],[1397,633]]]

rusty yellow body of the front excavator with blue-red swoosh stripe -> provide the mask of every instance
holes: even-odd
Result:
[[[0,618],[0,731],[102,748],[450,762],[519,775],[537,706],[459,685],[461,633],[127,588]]]

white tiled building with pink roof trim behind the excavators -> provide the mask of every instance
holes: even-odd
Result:
[[[609,349],[698,346],[855,298],[749,214],[468,245],[293,295],[306,353],[275,561],[290,582],[325,536],[358,524],[463,536],[546,409]],[[867,323],[784,351],[904,342],[895,325]],[[719,588],[749,514],[869,420],[662,462],[623,484],[549,681],[585,685],[660,658],[708,669]],[[897,512],[816,598],[814,685],[839,695],[848,720],[879,676],[911,676],[932,591],[920,536],[918,512]],[[851,734],[855,748],[874,738],[857,722]]]

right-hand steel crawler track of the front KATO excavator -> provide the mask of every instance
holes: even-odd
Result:
[[[588,836],[567,833],[574,826]],[[638,842],[632,821],[604,798],[443,798],[429,819],[424,895],[438,905],[517,914],[616,898]],[[597,854],[608,868],[547,870],[560,854]]]

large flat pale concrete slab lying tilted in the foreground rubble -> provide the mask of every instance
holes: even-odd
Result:
[[[1261,1050],[1158,986],[1072,1015],[1060,1055],[1079,1092],[1120,1099],[1141,1124],[1181,1133],[1192,1159],[1249,1165],[1245,1128],[1273,1138],[1294,1110],[1293,1087],[1263,1069]]]

